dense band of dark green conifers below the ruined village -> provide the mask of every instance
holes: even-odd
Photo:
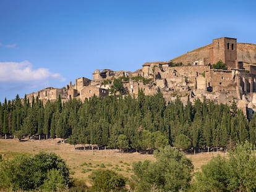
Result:
[[[166,103],[158,92],[147,96],[107,96],[81,102],[70,99],[43,104],[19,95],[0,102],[0,134],[22,139],[68,138],[71,144],[96,144],[108,148],[153,150],[166,143],[178,148],[228,148],[249,141],[255,145],[256,117],[248,120],[236,103],[190,102],[177,98]]]

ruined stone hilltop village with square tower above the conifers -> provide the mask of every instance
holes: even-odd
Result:
[[[213,69],[220,61],[227,69]],[[256,111],[256,45],[237,43],[236,38],[217,38],[170,61],[146,62],[135,72],[97,69],[93,80],[81,77],[65,88],[45,88],[26,96],[30,101],[38,97],[43,102],[56,101],[60,96],[65,102],[120,94],[118,88],[113,91],[114,79],[121,81],[123,95],[136,97],[143,90],[150,95],[161,91],[166,102],[177,97],[184,104],[195,99],[223,104],[236,101],[244,113],[252,115]]]

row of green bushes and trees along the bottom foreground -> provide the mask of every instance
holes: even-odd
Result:
[[[109,167],[90,172],[88,187],[69,177],[66,163],[54,153],[22,154],[0,161],[3,191],[255,191],[256,156],[252,144],[237,144],[228,157],[213,157],[194,175],[192,161],[166,146],[155,151],[155,161],[132,165],[132,177]],[[120,163],[121,164],[121,163]],[[90,167],[90,164],[84,167]],[[83,185],[81,185],[83,183]]]

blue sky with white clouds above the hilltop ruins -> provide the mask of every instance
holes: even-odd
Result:
[[[140,69],[228,36],[256,44],[256,1],[0,0],[0,102],[95,69]]]

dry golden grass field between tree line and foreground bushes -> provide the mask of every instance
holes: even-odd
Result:
[[[35,154],[40,151],[54,152],[64,159],[70,167],[71,177],[76,180],[84,181],[88,186],[90,182],[88,175],[93,169],[106,168],[115,170],[130,177],[132,174],[132,164],[138,161],[155,161],[153,155],[134,153],[121,153],[117,149],[113,150],[75,150],[73,145],[67,143],[58,143],[55,140],[25,140],[19,141],[0,139],[0,154],[4,159],[11,159],[20,153]],[[206,164],[212,157],[217,154],[225,156],[223,153],[199,153],[187,154],[192,160],[195,172],[200,170],[203,164]]]

